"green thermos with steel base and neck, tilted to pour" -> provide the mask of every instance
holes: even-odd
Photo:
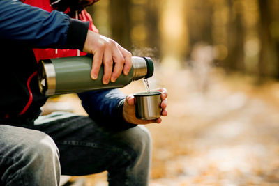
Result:
[[[98,78],[91,79],[92,56],[75,56],[39,61],[38,84],[44,95],[79,93],[84,91],[121,88],[130,82],[153,75],[153,61],[149,57],[132,57],[128,75],[121,74],[116,82],[103,84],[103,65]]]

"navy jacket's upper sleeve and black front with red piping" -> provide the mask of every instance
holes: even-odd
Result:
[[[38,87],[33,48],[82,49],[88,29],[89,22],[58,11],[0,0],[0,123],[36,118],[47,100]]]

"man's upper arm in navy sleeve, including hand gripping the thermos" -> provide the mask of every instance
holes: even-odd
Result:
[[[0,38],[29,47],[81,49],[93,54],[92,79],[104,65],[103,84],[115,82],[132,67],[132,54],[117,42],[93,31],[89,22],[73,20],[57,11],[48,13],[16,0],[0,0]],[[114,66],[114,67],[113,67]]]

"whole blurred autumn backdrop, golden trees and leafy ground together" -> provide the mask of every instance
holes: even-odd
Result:
[[[151,186],[279,185],[278,0],[101,0],[88,11],[101,34],[151,56],[151,88],[169,92],[169,115],[146,126]],[[107,185],[105,173],[85,183]]]

